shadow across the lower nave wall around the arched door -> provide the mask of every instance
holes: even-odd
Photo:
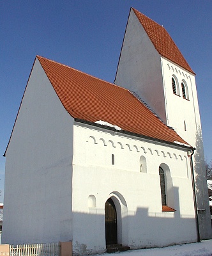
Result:
[[[130,204],[125,216],[117,210],[117,243],[138,249],[196,242],[194,214],[180,213],[178,188],[173,190],[176,212],[151,212],[145,207],[130,211]],[[155,203],[158,205],[158,202]],[[152,202],[153,205],[155,203]],[[89,214],[73,212],[73,255],[106,250],[104,209],[93,207],[89,211]]]

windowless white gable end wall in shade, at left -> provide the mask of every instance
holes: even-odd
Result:
[[[73,118],[38,60],[6,151],[2,243],[72,239]]]

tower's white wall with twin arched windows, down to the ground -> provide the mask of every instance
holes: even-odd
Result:
[[[211,221],[195,76],[165,58],[162,58],[162,70],[167,124],[173,127],[179,136],[190,143],[192,147],[196,148],[193,155],[193,166],[197,191],[197,207],[204,210],[199,211],[199,227],[201,239],[209,239],[211,238]],[[179,96],[172,92],[172,76],[178,79]],[[188,100],[183,99],[182,81],[185,81],[187,84]],[[186,123],[186,131],[184,121]]]

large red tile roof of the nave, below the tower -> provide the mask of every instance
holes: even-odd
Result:
[[[125,88],[37,56],[61,103],[73,118],[103,120],[124,131],[186,143]]]

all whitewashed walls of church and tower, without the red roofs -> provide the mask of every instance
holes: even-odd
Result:
[[[193,123],[201,125],[194,76],[162,58],[135,18],[131,13],[116,83],[125,88],[132,84],[128,89],[142,95],[163,122],[193,146]],[[133,45],[132,52],[125,50],[128,45]],[[189,100],[173,94],[172,76],[185,81]],[[2,243],[72,240],[74,255],[105,252],[109,198],[117,214],[118,244],[137,249],[197,241],[192,147],[123,132],[122,127],[82,122],[68,113],[54,89],[36,58],[5,154]],[[201,143],[199,148],[201,152]],[[173,211],[162,211],[159,167]],[[202,207],[202,237],[209,237],[208,209]]]

